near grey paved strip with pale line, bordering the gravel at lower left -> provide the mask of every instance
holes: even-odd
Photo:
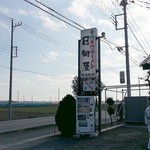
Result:
[[[60,133],[54,126],[0,134],[0,150],[32,150],[32,147],[57,134]]]

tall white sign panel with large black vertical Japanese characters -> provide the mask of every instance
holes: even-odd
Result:
[[[97,29],[81,31],[80,72],[81,78],[95,78],[97,68]]]

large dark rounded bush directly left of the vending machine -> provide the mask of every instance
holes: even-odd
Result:
[[[60,102],[55,116],[56,125],[63,136],[72,136],[76,131],[76,100],[68,94]]]

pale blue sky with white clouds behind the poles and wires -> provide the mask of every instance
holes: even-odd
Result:
[[[106,40],[101,42],[102,81],[107,86],[120,84],[119,72],[125,71],[125,56],[123,52],[117,51],[116,46],[124,46],[124,31],[116,31],[110,19],[122,13],[118,1],[41,2],[87,29],[96,27],[99,35],[101,32],[106,33]],[[131,29],[149,54],[150,10],[145,8],[144,3],[135,0],[134,4],[128,4],[127,13]],[[13,100],[57,101],[58,91],[60,99],[66,94],[72,94],[71,82],[78,73],[80,30],[24,0],[0,0],[0,99],[8,100],[9,93],[10,18],[14,19],[14,23],[22,22],[13,32],[14,46],[18,47],[18,56],[13,59]],[[118,21],[122,26],[121,17]],[[142,47],[129,30],[129,54],[134,59],[134,63],[130,61],[131,84],[137,84],[138,77],[145,76],[139,67],[147,56]]]

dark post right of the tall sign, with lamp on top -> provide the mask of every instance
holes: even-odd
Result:
[[[98,132],[101,133],[101,38],[105,38],[105,32],[98,36]]]

